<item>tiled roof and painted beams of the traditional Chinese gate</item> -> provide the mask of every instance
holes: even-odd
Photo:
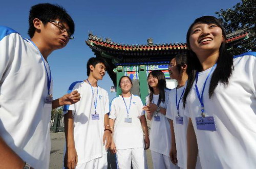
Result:
[[[247,28],[228,34],[226,36],[227,49],[252,36]],[[141,65],[144,65],[146,69],[143,76],[158,69],[163,71],[166,79],[169,79],[168,63],[170,59],[177,54],[187,53],[186,43],[154,44],[152,38],[147,40],[147,44],[133,45],[116,43],[110,38],[104,40],[93,33],[89,33],[86,44],[92,49],[96,57],[105,59],[108,65],[108,74],[115,86],[118,71],[123,71],[124,75],[131,79],[139,79],[139,74],[142,72],[140,70]],[[117,67],[120,67],[120,70]]]

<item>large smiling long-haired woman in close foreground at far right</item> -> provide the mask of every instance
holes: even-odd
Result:
[[[187,32],[188,168],[197,152],[202,168],[256,167],[256,53],[232,57],[225,40],[213,16],[197,18]]]

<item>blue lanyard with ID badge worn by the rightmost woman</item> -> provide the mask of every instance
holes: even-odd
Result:
[[[202,117],[196,117],[196,123],[197,123],[197,129],[198,130],[208,130],[208,131],[216,131],[216,124],[215,124],[215,120],[214,117],[209,116],[206,117],[205,116],[205,111],[204,111],[204,103],[203,103],[203,94],[204,94],[204,89],[206,86],[206,81],[209,78],[210,74],[212,73],[212,71],[214,70],[214,68],[217,66],[217,63],[211,68],[210,72],[208,73],[205,82],[204,82],[204,86],[203,86],[203,90],[202,90],[202,94],[200,96],[198,87],[197,87],[197,81],[198,81],[198,72],[196,74],[196,93],[197,93],[197,97],[200,101],[201,104],[201,116]]]

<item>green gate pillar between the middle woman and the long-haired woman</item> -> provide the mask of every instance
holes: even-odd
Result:
[[[140,65],[139,67],[139,81],[140,81],[140,98],[145,105],[145,98],[148,95],[147,87],[147,76],[146,76],[146,67],[145,65]]]

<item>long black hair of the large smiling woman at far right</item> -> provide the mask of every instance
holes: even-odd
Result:
[[[191,50],[190,43],[189,43],[191,29],[196,23],[216,24],[221,28],[222,35],[224,37],[224,40],[221,43],[221,46],[219,48],[219,57],[216,62],[217,67],[215,71],[212,73],[212,77],[210,80],[209,98],[211,98],[212,95],[214,94],[215,88],[218,86],[219,82],[223,83],[225,86],[228,85],[228,79],[231,76],[232,70],[233,70],[233,57],[228,53],[225,47],[226,33],[220,20],[218,20],[214,16],[202,16],[200,18],[197,18],[190,25],[186,35],[189,64],[187,66],[188,80],[187,80],[187,86],[186,86],[186,90],[183,97],[183,107],[185,107],[187,95],[190,92],[191,88],[193,87],[193,83],[196,78],[196,73],[201,69],[201,64],[197,58],[197,55],[193,50]]]

